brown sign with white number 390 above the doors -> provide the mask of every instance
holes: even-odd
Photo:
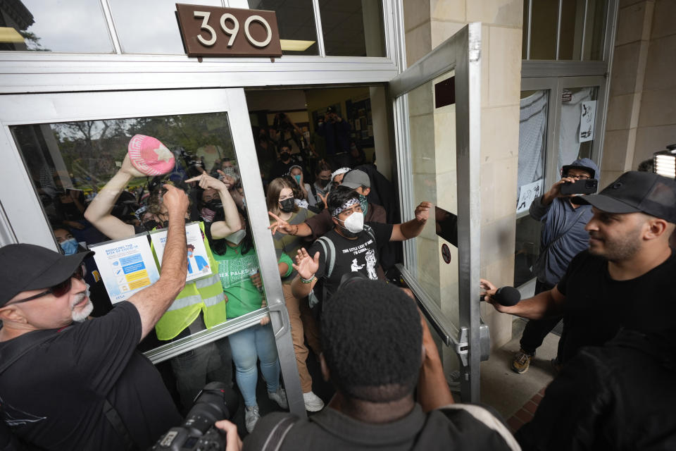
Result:
[[[188,56],[282,56],[275,11],[176,4]]]

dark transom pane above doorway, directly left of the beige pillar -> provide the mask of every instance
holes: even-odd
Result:
[[[319,8],[328,56],[386,56],[380,1],[320,0]]]

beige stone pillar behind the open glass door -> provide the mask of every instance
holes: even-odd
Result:
[[[522,6],[522,0],[403,0],[408,66],[465,24],[482,23],[481,266],[482,276],[498,286],[513,283]],[[430,200],[453,211],[456,143],[449,124],[455,106],[434,111],[432,84],[428,85],[409,94],[415,200]],[[421,194],[418,199],[418,192],[427,198]],[[445,314],[457,319],[457,273],[451,270],[456,268],[456,253],[451,265],[444,264],[441,245],[434,230],[425,230],[418,238],[419,274],[441,281],[441,288],[434,288],[432,282],[424,285],[437,290],[432,296],[441,299]],[[489,324],[492,347],[511,339],[511,316],[482,305],[482,319]],[[454,354],[446,352],[447,369],[453,360]]]

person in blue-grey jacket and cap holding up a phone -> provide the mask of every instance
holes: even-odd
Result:
[[[561,180],[554,183],[549,191],[536,197],[530,209],[530,217],[542,223],[542,239],[533,273],[537,278],[535,294],[551,290],[565,274],[572,257],[587,249],[589,234],[584,230],[592,218],[592,206],[572,202],[572,194],[561,194],[565,183],[594,178],[599,168],[588,158],[577,159],[561,168]],[[528,321],[520,340],[520,350],[512,359],[512,370],[522,374],[528,370],[535,350],[542,345],[548,333],[561,318]],[[554,359],[554,364],[558,360]]]

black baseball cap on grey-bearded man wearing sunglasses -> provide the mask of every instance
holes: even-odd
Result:
[[[22,291],[57,285],[75,273],[94,252],[63,255],[46,247],[18,244],[0,247],[0,307]]]

